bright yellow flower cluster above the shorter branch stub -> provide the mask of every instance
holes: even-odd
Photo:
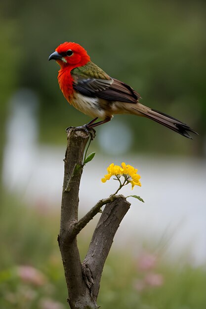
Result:
[[[121,188],[128,183],[131,184],[131,189],[134,188],[134,186],[140,186],[140,175],[137,174],[137,169],[135,169],[133,166],[129,164],[125,164],[124,162],[119,165],[115,165],[114,163],[110,164],[107,168],[108,174],[102,178],[102,182],[105,183],[107,180],[109,180],[112,176],[116,176],[117,180],[119,180],[121,184]],[[124,177],[123,184],[120,181],[121,177]]]

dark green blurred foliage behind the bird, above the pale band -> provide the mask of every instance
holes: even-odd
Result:
[[[68,105],[57,83],[58,66],[47,61],[57,45],[71,40],[82,44],[108,74],[140,92],[143,104],[200,133],[191,142],[148,119],[116,116],[137,132],[133,151],[138,145],[141,152],[204,154],[205,1],[10,0],[1,2],[0,11],[0,112],[5,116],[15,87],[35,90],[41,142],[63,143],[64,128],[89,120]]]

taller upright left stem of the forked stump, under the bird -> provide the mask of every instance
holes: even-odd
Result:
[[[68,302],[71,309],[97,309],[96,302],[91,299],[82,276],[77,238],[73,233],[73,226],[78,221],[82,160],[88,139],[89,133],[86,129],[71,128],[68,131],[67,150],[64,159],[65,172],[58,242],[67,282]]]

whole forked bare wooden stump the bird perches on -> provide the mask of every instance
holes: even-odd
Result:
[[[64,159],[65,170],[58,242],[69,295],[68,303],[71,309],[98,308],[96,300],[104,263],[114,235],[130,206],[123,195],[112,195],[100,200],[78,221],[83,154],[89,136],[90,133],[83,127],[69,129]],[[105,204],[88,252],[81,264],[77,234]]]

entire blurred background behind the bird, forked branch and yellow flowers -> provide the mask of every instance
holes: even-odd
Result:
[[[116,191],[101,178],[122,161],[142,188],[105,265],[98,305],[206,308],[206,2],[0,2],[0,308],[66,309],[58,244],[65,128],[90,120],[71,107],[48,56],[64,41],[142,96],[190,125],[186,139],[136,116],[96,129],[83,171],[80,216]],[[128,187],[128,186],[127,186]],[[79,235],[81,257],[95,218]]]

